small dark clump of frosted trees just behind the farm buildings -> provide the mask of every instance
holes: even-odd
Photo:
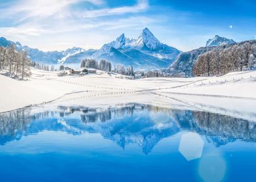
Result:
[[[111,72],[112,65],[106,60],[101,60],[99,63],[94,59],[84,59],[80,65],[81,68],[95,68],[97,70],[103,70],[104,72]]]

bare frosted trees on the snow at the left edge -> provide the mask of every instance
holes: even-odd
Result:
[[[10,47],[0,47],[0,70],[5,72],[5,75],[21,79],[29,77],[30,64],[27,51],[16,51],[14,44]]]

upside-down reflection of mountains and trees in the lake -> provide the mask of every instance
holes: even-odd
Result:
[[[37,109],[40,110],[40,109]],[[256,141],[254,121],[210,112],[176,110],[127,103],[116,107],[88,108],[59,106],[54,111],[32,108],[0,114],[0,144],[42,131],[62,131],[71,135],[99,133],[121,148],[138,144],[148,154],[163,138],[180,131],[203,135],[219,147],[235,140]]]

